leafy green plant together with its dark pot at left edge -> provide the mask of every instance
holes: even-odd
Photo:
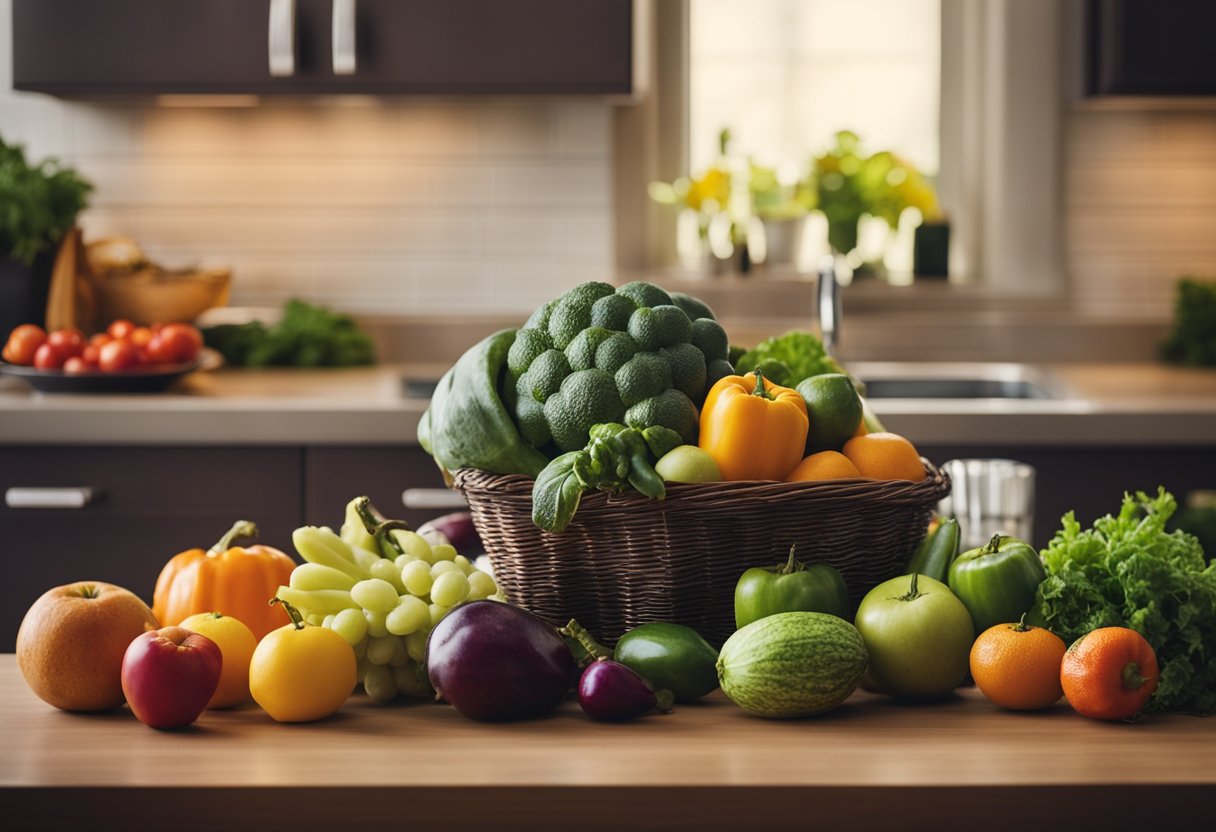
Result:
[[[30,164],[0,137],[0,333],[41,325],[51,266],[92,185],[54,159]]]

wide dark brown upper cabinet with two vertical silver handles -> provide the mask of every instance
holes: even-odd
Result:
[[[635,0],[13,0],[52,95],[632,95]]]

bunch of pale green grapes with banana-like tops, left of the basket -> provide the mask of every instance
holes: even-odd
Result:
[[[347,505],[338,533],[305,525],[292,534],[304,563],[276,596],[355,651],[359,681],[376,702],[430,697],[427,636],[463,601],[501,600],[485,572],[449,543],[384,519],[367,497]]]

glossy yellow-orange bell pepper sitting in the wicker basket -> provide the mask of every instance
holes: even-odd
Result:
[[[810,421],[806,403],[759,370],[726,376],[700,410],[700,448],[722,479],[784,479],[803,461]]]

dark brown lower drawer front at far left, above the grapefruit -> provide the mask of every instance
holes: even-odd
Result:
[[[151,603],[173,555],[209,547],[238,519],[293,555],[302,457],[297,448],[0,448],[0,652],[13,650],[22,617],[47,589],[103,580]],[[11,507],[28,488],[90,488],[96,499]]]

